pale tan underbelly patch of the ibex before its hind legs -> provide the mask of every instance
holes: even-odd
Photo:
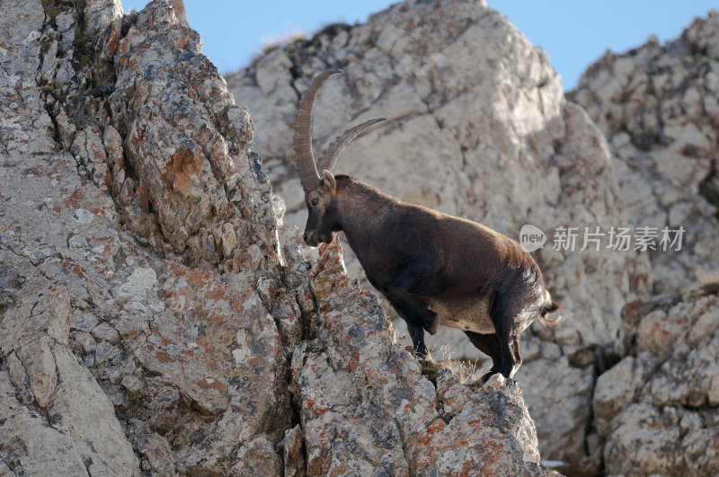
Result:
[[[488,296],[466,296],[453,300],[429,299],[427,304],[439,316],[439,324],[443,326],[481,334],[494,332]]]

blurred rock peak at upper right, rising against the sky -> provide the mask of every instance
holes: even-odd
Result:
[[[716,278],[719,267],[719,15],[677,40],[608,52],[569,98],[608,138],[633,225],[684,227],[679,252],[650,252],[652,291]]]

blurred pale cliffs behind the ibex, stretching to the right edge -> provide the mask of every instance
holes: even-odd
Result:
[[[701,286],[716,281],[719,256],[716,18],[697,20],[663,46],[651,40],[626,54],[608,53],[567,98],[541,49],[500,13],[458,0],[404,2],[367,24],[330,25],[255,58],[227,83],[253,111],[253,144],[285,199],[290,225],[304,226],[292,163],[294,111],[316,72],[341,67],[342,80],[328,82],[315,103],[317,148],[361,120],[390,121],[355,141],[337,172],[510,237],[518,238],[524,224],[546,232],[535,257],[553,296],[573,314],[555,329],[535,325],[522,338],[525,364],[516,377],[543,456],[567,462],[572,474],[712,473],[714,451],[695,456],[698,436],[715,426],[716,404],[706,396],[719,369],[704,358],[682,364],[694,356],[688,344],[662,341],[682,351],[655,349],[648,357],[625,341],[664,332],[653,324],[632,328],[632,309],[641,314],[635,322],[647,315],[654,323],[656,304],[681,302],[672,319],[682,330],[670,336],[701,356],[714,346],[705,323],[715,292]],[[551,246],[562,227],[579,231],[573,250]],[[611,250],[612,227],[643,229],[655,241]],[[672,239],[684,232],[681,243],[661,250],[665,227]],[[588,238],[602,233],[599,252],[592,242],[581,250],[585,231]],[[351,276],[361,279],[345,253]],[[646,301],[649,292],[666,296]],[[706,296],[702,305],[697,294]],[[707,311],[686,314],[692,306]],[[404,332],[404,323],[396,326]],[[702,340],[687,334],[705,332]],[[478,356],[461,333],[436,338],[436,350],[448,343],[457,358]],[[627,367],[641,369],[628,382]],[[679,386],[681,395],[652,401],[659,383]],[[637,404],[632,409],[642,417],[619,412],[612,393]],[[697,396],[694,404],[688,395]],[[650,420],[655,415],[661,420]],[[675,450],[660,456],[661,446]],[[650,465],[654,459],[665,464]]]

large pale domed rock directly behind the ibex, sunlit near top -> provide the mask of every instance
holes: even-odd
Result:
[[[336,172],[513,238],[524,224],[549,234],[537,261],[573,315],[552,330],[532,328],[517,379],[526,384],[543,454],[598,468],[599,448],[585,444],[594,351],[601,355],[600,345],[614,340],[621,307],[643,296],[648,272],[645,254],[595,252],[591,244],[580,251],[583,235],[573,251],[553,250],[556,227],[607,231],[629,221],[599,129],[564,100],[541,49],[483,2],[395,4],[367,24],[332,25],[227,77],[253,113],[254,145],[286,201],[289,224],[304,226],[291,147],[298,98],[329,67],[345,75],[328,81],[315,102],[316,146],[364,119],[389,118],[353,143]],[[361,278],[351,257],[348,269]],[[404,332],[404,323],[398,328]],[[480,355],[462,333],[447,330],[429,345],[449,342],[457,358]],[[587,448],[591,464],[579,464]]]

